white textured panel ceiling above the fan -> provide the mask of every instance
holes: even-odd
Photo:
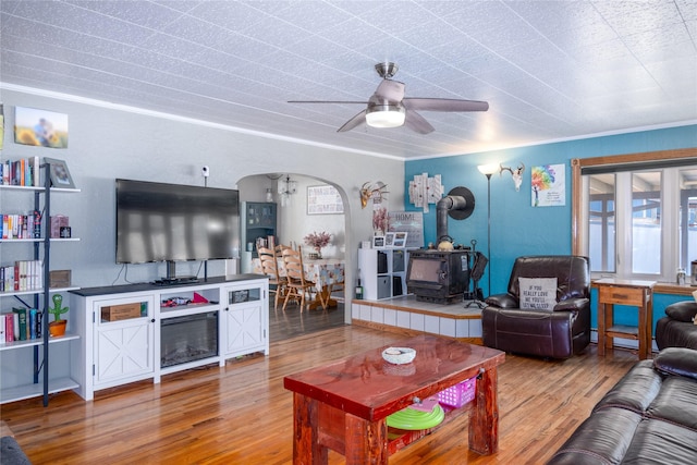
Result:
[[[0,81],[415,158],[697,121],[697,0],[9,1]],[[337,133],[393,61],[436,127]]]

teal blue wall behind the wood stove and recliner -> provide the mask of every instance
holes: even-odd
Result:
[[[475,196],[473,215],[462,221],[449,218],[449,234],[455,241],[469,245],[477,241],[477,249],[487,253],[487,178],[477,166],[500,162],[515,168],[523,162],[523,184],[516,192],[511,174],[491,176],[491,257],[487,272],[491,272],[491,292],[488,277],[479,282],[484,294],[505,292],[511,267],[516,257],[539,254],[570,254],[571,244],[571,160],[623,154],[697,147],[697,125],[643,131],[580,140],[542,144],[530,147],[438,157],[405,162],[405,192],[415,174],[440,174],[445,194],[456,186],[470,189]],[[565,166],[566,205],[563,207],[533,207],[530,167],[542,164]],[[420,211],[405,199],[405,210]],[[436,206],[424,215],[425,242],[436,242]],[[678,298],[681,299],[681,298]],[[657,305],[655,319],[663,316]],[[595,305],[595,304],[594,304]],[[595,327],[595,325],[594,325]]]

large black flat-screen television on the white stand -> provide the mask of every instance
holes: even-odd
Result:
[[[233,258],[237,191],[117,180],[117,264]]]

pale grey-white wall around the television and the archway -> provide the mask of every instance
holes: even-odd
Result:
[[[76,186],[82,189],[81,194],[54,196],[52,204],[54,213],[70,217],[73,235],[81,237],[81,242],[54,246],[51,269],[71,269],[76,285],[123,284],[124,279],[143,282],[164,276],[164,266],[161,264],[129,266],[127,277],[122,272],[125,270],[115,264],[117,178],[203,185],[200,168],[207,164],[211,171],[208,180],[211,187],[237,188],[237,182],[243,178],[265,173],[298,174],[333,184],[342,194],[346,211],[348,283],[355,280],[357,245],[372,232],[371,211],[360,208],[357,194],[359,186],[366,181],[379,179],[390,186],[390,204],[400,206],[395,209],[402,209],[404,204],[404,163],[401,160],[139,114],[64,96],[3,89],[2,101],[5,113],[2,159],[35,155],[63,159]],[[66,113],[69,147],[49,149],[14,144],[12,129],[15,106]],[[342,134],[337,134],[338,144],[341,137]],[[366,173],[374,178],[367,179]],[[260,189],[258,197],[253,197],[256,192],[249,189],[247,193],[246,188],[241,188],[241,198],[264,199],[267,186],[257,187]],[[297,195],[302,195],[302,192]],[[0,211],[24,212],[28,207],[23,201],[3,191]],[[27,253],[21,250],[21,255]],[[5,265],[19,259],[14,255],[20,253],[3,246],[2,254],[1,260]],[[197,269],[198,262],[178,266],[181,274],[195,273]],[[221,261],[209,264],[208,269],[209,276],[224,273]],[[351,291],[353,286],[347,285],[346,289]]]

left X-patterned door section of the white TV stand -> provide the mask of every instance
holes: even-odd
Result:
[[[138,297],[129,303],[145,303],[147,314],[137,318],[105,321],[101,309],[125,303],[102,301],[95,305],[94,386],[109,388],[152,377],[155,374],[155,299]]]

